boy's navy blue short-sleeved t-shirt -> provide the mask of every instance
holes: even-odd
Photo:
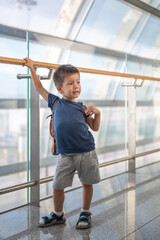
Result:
[[[57,98],[49,93],[48,107],[51,110]],[[95,149],[94,138],[85,122],[82,102],[59,98],[54,110],[54,132],[57,153],[81,153]]]

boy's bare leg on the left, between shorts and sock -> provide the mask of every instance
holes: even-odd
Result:
[[[53,203],[55,212],[63,211],[64,190],[53,190]]]

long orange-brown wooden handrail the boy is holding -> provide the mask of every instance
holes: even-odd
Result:
[[[16,59],[16,58],[0,57],[0,63],[23,65],[25,63],[25,60]],[[60,66],[59,64],[44,63],[44,62],[37,62],[37,61],[33,61],[33,64],[34,64],[35,67],[54,68],[54,69],[56,69]],[[136,79],[143,79],[143,80],[160,81],[160,78],[156,78],[156,77],[148,77],[148,76],[134,75],[134,74],[128,74],[128,73],[119,73],[119,72],[110,72],[110,71],[103,71],[103,70],[96,70],[96,69],[89,69],[89,68],[80,68],[80,67],[77,67],[77,68],[80,72],[85,72],[85,73],[93,73],[93,74],[109,75],[109,76],[115,76],[115,77],[125,77],[125,78],[136,78]]]

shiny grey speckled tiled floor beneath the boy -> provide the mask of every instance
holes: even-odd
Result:
[[[120,174],[94,186],[92,228],[76,230],[81,189],[66,193],[65,225],[38,228],[52,199],[0,215],[0,239],[160,240],[160,163]]]

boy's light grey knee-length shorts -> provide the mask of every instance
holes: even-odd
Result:
[[[72,186],[76,170],[82,184],[100,182],[98,158],[95,150],[80,154],[59,154],[53,189],[62,190]]]

